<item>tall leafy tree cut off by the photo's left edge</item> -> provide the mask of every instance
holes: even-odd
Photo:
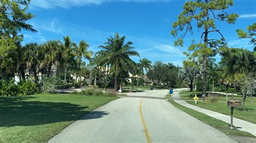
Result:
[[[6,79],[14,77],[14,73],[21,71],[21,41],[23,35],[19,35],[21,30],[37,32],[26,21],[35,17],[27,13],[30,0],[23,1],[0,1],[0,69]],[[16,50],[16,48],[19,48]],[[19,67],[18,67],[18,66]],[[23,78],[24,78],[24,73]]]

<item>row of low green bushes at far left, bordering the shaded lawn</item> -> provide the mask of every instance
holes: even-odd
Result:
[[[0,83],[0,96],[26,96],[36,92],[38,92],[37,85],[31,81],[15,84],[14,80],[3,80]]]

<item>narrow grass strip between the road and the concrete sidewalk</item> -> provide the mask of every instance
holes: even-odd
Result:
[[[169,99],[168,101],[170,103],[172,103],[174,106],[176,106],[178,109],[183,110],[184,112],[188,113],[188,115],[191,115],[192,117],[197,118],[200,121],[203,121],[203,123],[208,124],[227,135],[255,138],[254,135],[252,135],[251,133],[248,133],[248,132],[239,131],[239,130],[229,130],[228,123],[226,123],[225,121],[218,120],[213,117],[207,116],[204,113],[195,111],[190,108],[186,108],[185,106],[174,102],[172,99]]]

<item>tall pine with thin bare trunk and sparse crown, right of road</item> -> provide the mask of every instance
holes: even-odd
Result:
[[[226,45],[223,34],[215,26],[215,20],[234,24],[237,19],[237,14],[228,15],[225,12],[230,6],[233,5],[232,0],[198,0],[185,2],[183,11],[178,16],[177,22],[174,22],[171,34],[174,37],[178,36],[179,31],[185,31],[177,41],[174,42],[175,46],[183,46],[183,38],[187,33],[193,34],[193,22],[196,23],[198,31],[201,32],[200,41],[196,44],[192,43],[188,47],[188,51],[193,51],[193,56],[201,56],[203,58],[203,94],[206,95],[206,67],[207,58],[214,54],[214,52],[222,51]],[[210,38],[210,34],[217,33],[220,39]],[[203,43],[202,43],[203,41]]]

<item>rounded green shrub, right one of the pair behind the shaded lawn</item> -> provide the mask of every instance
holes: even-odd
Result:
[[[22,81],[18,83],[18,95],[26,96],[38,92],[37,85],[32,81]]]

